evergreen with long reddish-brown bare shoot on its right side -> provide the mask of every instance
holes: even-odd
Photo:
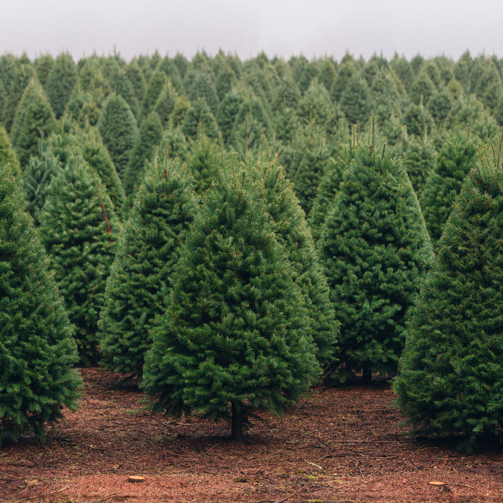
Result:
[[[82,159],[70,159],[52,178],[38,229],[76,325],[80,363],[96,363],[97,323],[120,224],[100,178]]]

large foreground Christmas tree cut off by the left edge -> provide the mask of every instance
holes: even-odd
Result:
[[[78,408],[73,327],[12,169],[0,166],[0,445]]]

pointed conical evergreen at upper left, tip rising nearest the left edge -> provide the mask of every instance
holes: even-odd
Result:
[[[33,81],[25,90],[12,126],[21,166],[26,166],[30,157],[37,155],[41,136],[50,136],[55,128],[56,119],[42,86]]]

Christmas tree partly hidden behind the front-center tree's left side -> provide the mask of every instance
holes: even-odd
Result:
[[[98,322],[100,350],[114,372],[141,377],[150,330],[165,309],[169,278],[197,208],[194,180],[178,160],[147,166],[119,240]]]

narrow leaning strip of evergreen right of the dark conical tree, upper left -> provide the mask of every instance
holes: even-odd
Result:
[[[157,112],[151,112],[143,121],[138,137],[134,142],[126,171],[124,172],[124,190],[131,194],[143,178],[145,162],[154,157],[154,147],[161,144],[163,125]]]

